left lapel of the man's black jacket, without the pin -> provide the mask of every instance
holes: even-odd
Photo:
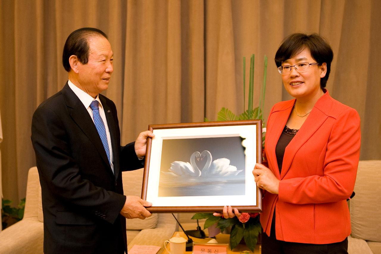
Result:
[[[99,137],[99,133],[96,130],[93,119],[91,119],[87,109],[83,106],[82,102],[70,89],[67,83],[64,88],[62,88],[62,94],[65,96],[66,105],[71,108],[70,116],[72,117],[73,121],[90,139],[91,143],[93,143],[99,155],[111,171],[109,159],[107,158],[106,151],[104,150],[102,140]]]

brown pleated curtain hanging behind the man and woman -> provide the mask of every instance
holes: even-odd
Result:
[[[65,84],[64,42],[85,26],[106,32],[114,50],[104,94],[117,105],[123,144],[149,124],[214,120],[222,107],[242,113],[242,58],[248,77],[252,53],[255,105],[269,58],[267,117],[290,99],[273,61],[280,42],[317,32],[335,54],[330,94],[362,119],[361,159],[381,159],[380,12],[379,0],[0,0],[4,197],[25,196],[32,114]]]

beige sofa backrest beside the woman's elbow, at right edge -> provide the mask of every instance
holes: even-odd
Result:
[[[354,191],[349,201],[355,238],[381,242],[381,161],[360,161]]]

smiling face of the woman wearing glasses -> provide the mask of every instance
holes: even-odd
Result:
[[[312,58],[308,48],[304,48],[298,55],[282,62],[283,65],[293,66],[298,63],[316,63]],[[322,92],[320,88],[320,78],[324,77],[327,72],[327,64],[310,65],[307,71],[298,72],[295,67],[291,68],[291,72],[281,74],[283,85],[286,91],[295,98],[312,99],[314,96],[319,96]]]

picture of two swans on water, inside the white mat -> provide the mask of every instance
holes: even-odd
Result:
[[[245,195],[242,137],[164,139],[159,197]]]

